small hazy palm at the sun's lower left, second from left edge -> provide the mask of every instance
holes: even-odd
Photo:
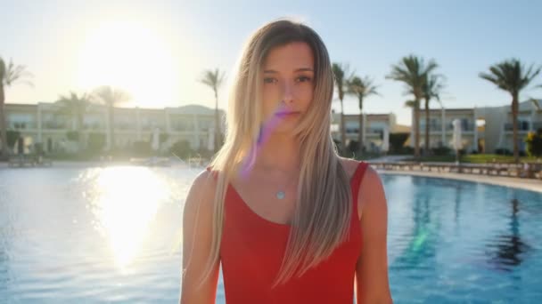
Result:
[[[76,92],[70,92],[70,95],[60,95],[57,104],[60,106],[59,114],[70,116],[75,124],[72,124],[72,131],[78,132],[78,146],[81,148],[81,129],[83,129],[83,116],[90,105],[91,96],[82,93],[78,96]]]

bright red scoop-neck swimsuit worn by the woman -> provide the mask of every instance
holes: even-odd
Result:
[[[227,304],[348,303],[354,296],[354,276],[361,250],[357,192],[367,164],[361,162],[350,180],[352,218],[349,240],[300,278],[271,290],[281,266],[290,226],[265,220],[227,188],[225,221],[220,244]]]

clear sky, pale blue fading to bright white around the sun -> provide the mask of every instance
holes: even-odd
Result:
[[[131,93],[127,106],[214,107],[213,92],[199,82],[203,71],[220,68],[232,79],[250,34],[282,17],[314,28],[333,62],[374,78],[380,95],[364,101],[365,113],[391,112],[398,124],[411,124],[410,97],[385,76],[404,56],[436,60],[447,78],[445,108],[507,105],[508,93],[479,73],[510,58],[542,65],[540,1],[0,0],[0,57],[33,75],[33,86],[7,88],[6,102],[53,102],[112,84]],[[542,89],[521,94],[530,97],[542,98]],[[345,113],[358,112],[354,97],[344,105]]]

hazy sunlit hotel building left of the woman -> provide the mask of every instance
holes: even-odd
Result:
[[[54,103],[6,104],[7,130],[18,131],[25,139],[25,145],[42,143],[46,152],[70,149],[67,132],[76,124],[74,118],[59,114]],[[220,110],[222,116],[224,112]],[[187,140],[191,148],[208,146],[214,132],[215,111],[199,105],[179,108],[114,108],[114,139],[118,148],[130,147],[135,141],[150,141],[156,128],[168,134],[168,140],[161,148],[169,148],[177,140]],[[90,133],[102,133],[106,137],[105,148],[111,147],[108,132],[108,109],[92,104],[83,117],[80,131],[83,145]],[[1,144],[0,144],[1,145]],[[84,148],[84,147],[83,147]]]

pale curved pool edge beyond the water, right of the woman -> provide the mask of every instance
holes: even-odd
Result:
[[[489,185],[496,185],[508,188],[520,188],[523,190],[530,190],[538,193],[542,193],[542,180],[532,179],[518,179],[504,176],[485,176],[478,174],[468,173],[453,173],[453,172],[417,172],[417,171],[396,171],[396,170],[376,170],[379,174],[393,174],[393,175],[412,175],[430,177],[435,179],[448,179],[448,180],[465,180],[471,182],[480,182]]]

